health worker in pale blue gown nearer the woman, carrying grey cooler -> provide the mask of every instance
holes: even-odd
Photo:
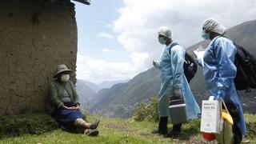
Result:
[[[161,71],[161,90],[158,94],[158,112],[160,121],[158,129],[153,134],[163,134],[165,138],[176,137],[181,133],[182,124],[174,125],[168,133],[167,121],[170,116],[169,96],[183,96],[186,103],[186,113],[189,119],[198,118],[201,114],[198,103],[190,90],[186,80],[183,63],[186,51],[171,38],[170,28],[164,26],[158,30],[158,42],[165,47],[162,50],[160,61],[153,61],[153,65]],[[175,46],[174,46],[175,45]]]

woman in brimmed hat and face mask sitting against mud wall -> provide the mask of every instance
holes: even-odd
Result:
[[[62,130],[82,128],[84,134],[96,136],[99,121],[88,123],[82,119],[84,115],[79,110],[78,94],[73,82],[69,80],[71,72],[66,65],[58,66],[55,79],[50,82],[50,101],[46,102],[46,109]]]

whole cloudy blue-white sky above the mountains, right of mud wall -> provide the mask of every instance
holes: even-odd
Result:
[[[163,46],[160,26],[188,47],[202,40],[202,22],[226,28],[256,19],[254,0],[92,0],[75,3],[78,22],[77,78],[99,83],[133,78],[150,69]]]

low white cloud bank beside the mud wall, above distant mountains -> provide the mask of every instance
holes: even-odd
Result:
[[[139,54],[136,56],[139,57]],[[76,74],[78,79],[95,83],[123,80],[133,78],[140,72],[140,69],[137,69],[138,66],[142,65],[142,63],[133,62],[106,62],[78,54]]]

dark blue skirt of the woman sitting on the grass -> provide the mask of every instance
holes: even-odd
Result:
[[[65,106],[74,106],[73,102],[66,102],[64,103]],[[53,118],[55,118],[58,125],[62,128],[62,130],[74,130],[76,126],[74,126],[74,121],[77,118],[84,118],[84,115],[80,110],[64,110],[59,108],[54,110],[51,114]]]

